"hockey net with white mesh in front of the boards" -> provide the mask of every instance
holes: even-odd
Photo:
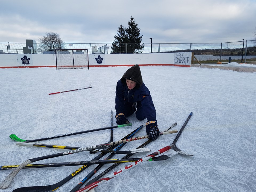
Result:
[[[88,49],[56,49],[57,69],[89,69]]]

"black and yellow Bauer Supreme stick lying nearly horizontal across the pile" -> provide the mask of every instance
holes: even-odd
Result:
[[[98,165],[98,164],[109,164],[109,163],[130,163],[138,161],[141,158],[122,158],[122,159],[104,159],[104,160],[91,160],[91,161],[76,161],[76,162],[63,162],[63,163],[42,163],[42,164],[29,164],[23,167],[23,169],[31,168],[48,168],[48,167],[66,167],[66,166],[77,166],[77,165]],[[167,155],[161,155],[159,157],[153,157],[148,161],[164,161],[169,159]],[[0,166],[0,170],[15,169],[19,165],[3,165]]]

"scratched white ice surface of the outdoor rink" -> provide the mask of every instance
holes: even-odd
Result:
[[[116,82],[128,68],[0,69],[0,165],[19,165],[27,159],[67,151],[18,146],[10,134],[28,140],[109,127],[110,111],[115,115]],[[177,142],[181,150],[194,156],[170,150],[166,161],[142,163],[99,185],[95,191],[256,191],[256,73],[174,66],[141,66],[141,72],[151,91],[160,130],[177,122],[173,129],[179,131],[190,112],[194,113]],[[48,95],[90,84],[91,89]],[[138,121],[135,115],[128,119],[133,125],[115,128],[114,141],[146,122]],[[145,134],[143,128],[136,136]],[[176,135],[163,135],[147,146],[151,152],[132,157],[145,157],[170,145]],[[38,143],[86,147],[109,139],[110,130],[103,130]],[[135,149],[145,140],[127,143],[122,150]],[[96,156],[83,152],[35,163],[85,161]],[[129,164],[123,163],[110,173]],[[98,173],[109,166],[104,165]],[[52,185],[79,167],[22,169],[11,185],[1,191]],[[95,167],[90,166],[56,191],[69,192]],[[10,172],[0,170],[0,182]]]

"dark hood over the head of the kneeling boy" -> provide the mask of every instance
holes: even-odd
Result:
[[[135,81],[137,85],[134,89],[139,89],[143,84],[141,70],[139,69],[139,65],[134,65],[130,69],[128,69],[123,77],[121,78],[121,82],[123,85],[126,85],[126,79],[130,79],[131,81]]]

